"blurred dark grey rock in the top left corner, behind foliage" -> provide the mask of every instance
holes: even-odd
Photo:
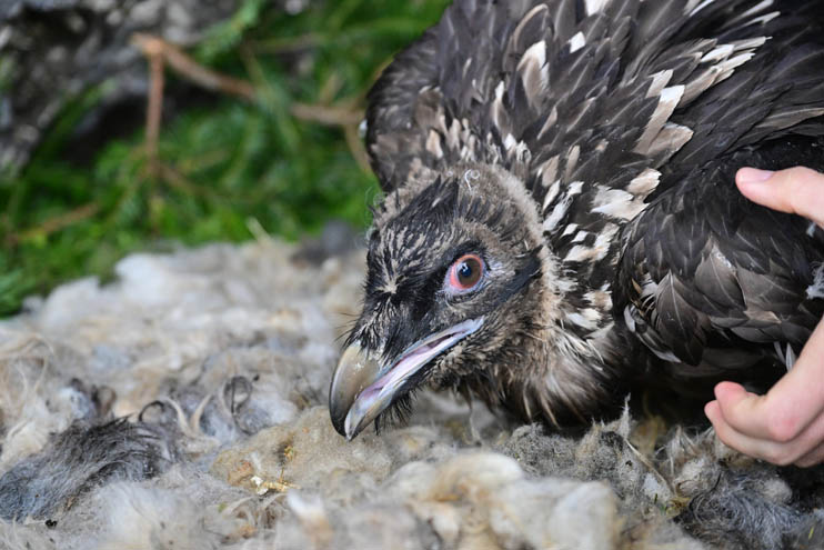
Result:
[[[66,101],[104,80],[100,104],[143,117],[145,62],[130,44],[150,32],[191,46],[230,17],[238,0],[3,0],[0,2],[0,170],[24,164]],[[122,117],[121,117],[122,118]],[[108,130],[111,136],[111,128]]]

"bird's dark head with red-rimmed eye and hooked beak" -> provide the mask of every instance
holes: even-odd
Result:
[[[459,167],[389,194],[330,388],[338,432],[355,437],[423,384],[501,391],[498,369],[540,330],[545,259],[534,202],[502,169]]]

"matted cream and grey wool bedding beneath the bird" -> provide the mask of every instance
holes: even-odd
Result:
[[[824,543],[818,469],[629,412],[574,437],[423,393],[346,442],[325,401],[362,266],[214,244],[31,299],[0,323],[0,548]]]

